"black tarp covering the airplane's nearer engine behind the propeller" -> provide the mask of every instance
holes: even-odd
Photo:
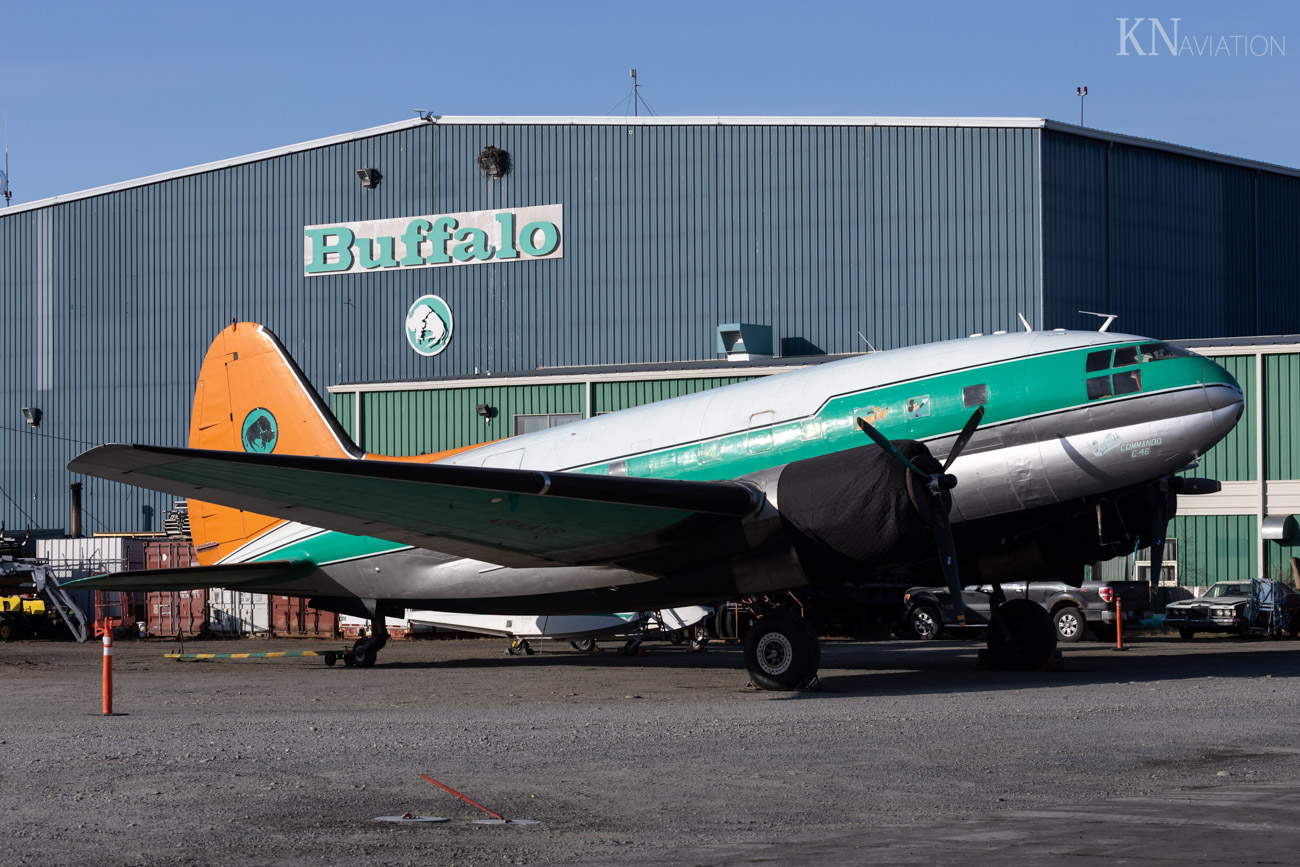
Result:
[[[937,472],[924,445],[894,446]],[[781,471],[777,508],[800,562],[814,581],[852,581],[872,568],[935,556],[933,530],[907,495],[909,471],[876,445],[800,460]],[[919,497],[930,497],[915,480]]]

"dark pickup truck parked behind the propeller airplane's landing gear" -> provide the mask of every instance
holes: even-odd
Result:
[[[989,597],[993,585],[983,584],[962,590],[966,603],[967,629],[988,625]],[[1002,585],[1008,599],[1037,602],[1052,615],[1060,641],[1083,641],[1089,629],[1109,640],[1115,629],[1115,599],[1122,602],[1124,625],[1138,625],[1150,616],[1150,588],[1145,581],[1084,581],[1071,586],[1062,581],[1013,581]],[[914,638],[939,638],[945,630],[956,633],[957,611],[948,588],[913,588],[904,597],[904,632]]]

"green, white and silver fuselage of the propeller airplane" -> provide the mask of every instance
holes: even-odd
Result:
[[[1156,341],[1035,331],[819,364],[514,437],[445,461],[770,481],[794,461],[866,445],[859,417],[890,439],[922,441],[942,459],[983,406],[984,422],[953,468],[961,484],[952,517],[962,523],[1175,473],[1231,430],[1242,400],[1223,368]],[[776,507],[777,486],[762,487]],[[225,562],[276,559],[316,563],[341,593],[430,604],[563,595],[659,577],[615,568],[502,568],[292,523]],[[395,572],[406,576],[396,595]]]

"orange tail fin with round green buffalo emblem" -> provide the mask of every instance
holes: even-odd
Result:
[[[230,325],[208,347],[194,391],[190,447],[361,456],[281,342],[255,322]],[[203,565],[283,523],[190,500],[190,530]]]

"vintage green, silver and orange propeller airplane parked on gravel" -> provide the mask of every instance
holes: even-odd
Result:
[[[1218,489],[1178,473],[1242,404],[1227,370],[1166,343],[1031,331],[395,458],[361,452],[280,341],[239,322],[203,361],[188,448],[107,445],[69,463],[190,497],[202,565],[77,586],[309,597],[380,624],[354,647],[360,664],[387,638],[385,614],[404,608],[601,614],[741,598],[760,615],[750,679],[794,689],[816,676],[820,649],[780,591],[926,584],[937,563],[961,599],[970,584],[1078,584],[1084,564],[1139,542],[1158,560],[1175,493]],[[1046,612],[994,603],[991,662],[1044,663]]]

